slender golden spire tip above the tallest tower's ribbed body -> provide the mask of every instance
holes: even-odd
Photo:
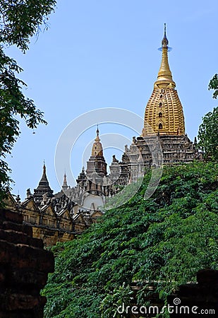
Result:
[[[171,70],[169,69],[169,63],[168,63],[168,54],[169,51],[168,47],[169,41],[166,37],[166,23],[164,23],[164,37],[162,40],[162,47],[160,50],[162,51],[162,63],[159,68],[159,72],[157,75],[157,81],[155,82],[156,88],[175,88],[176,83],[173,81]]]

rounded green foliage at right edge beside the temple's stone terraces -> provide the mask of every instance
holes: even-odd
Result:
[[[198,147],[205,153],[205,158],[218,160],[218,107],[202,118],[198,130]]]

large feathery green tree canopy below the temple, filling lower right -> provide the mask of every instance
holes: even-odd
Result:
[[[107,211],[77,240],[56,245],[56,269],[42,291],[45,317],[123,317],[116,307],[132,302],[133,281],[142,287],[138,305],[146,305],[147,285],[164,302],[178,285],[195,281],[199,269],[218,269],[217,168],[166,166],[145,201],[148,174],[124,206]]]

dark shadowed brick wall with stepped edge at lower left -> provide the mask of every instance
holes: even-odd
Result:
[[[54,256],[32,237],[23,216],[0,209],[0,317],[41,318],[40,290],[54,271]]]

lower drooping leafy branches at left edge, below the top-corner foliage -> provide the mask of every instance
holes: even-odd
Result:
[[[35,128],[38,123],[46,123],[43,113],[37,110],[33,101],[25,98],[22,93],[23,81],[15,76],[15,72],[22,71],[16,61],[6,57],[0,47],[0,157],[6,158],[11,153],[13,144],[20,134],[18,116],[25,119],[28,127]],[[8,165],[0,159],[0,200],[1,194],[4,195],[6,187],[9,185],[10,178],[7,175]]]

